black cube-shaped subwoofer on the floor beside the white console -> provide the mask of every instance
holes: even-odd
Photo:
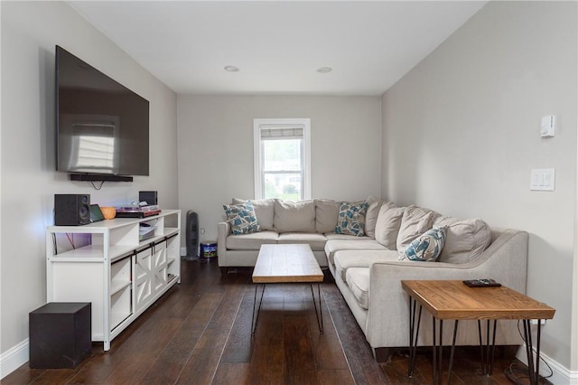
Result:
[[[51,302],[29,314],[33,369],[76,368],[90,355],[89,302]]]

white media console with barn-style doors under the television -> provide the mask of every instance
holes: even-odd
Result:
[[[110,342],[181,281],[180,210],[46,230],[47,302],[90,302],[92,341]],[[139,240],[142,227],[154,236]],[[59,235],[86,234],[89,245],[57,250]],[[70,241],[70,244],[73,244]]]

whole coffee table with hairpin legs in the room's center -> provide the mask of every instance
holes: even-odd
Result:
[[[262,245],[259,255],[256,258],[255,269],[253,270],[253,283],[255,286],[255,302],[253,303],[253,318],[251,320],[251,334],[255,334],[256,323],[259,320],[259,312],[263,304],[266,284],[279,283],[309,283],[315,315],[319,332],[323,333],[322,296],[319,283],[323,282],[322,268],[311,247],[306,244],[271,244]],[[319,300],[319,314],[315,295],[313,294],[313,284],[317,284],[317,297]],[[256,309],[256,293],[259,285],[263,286],[259,307]]]

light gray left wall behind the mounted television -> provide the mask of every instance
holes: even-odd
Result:
[[[176,208],[176,95],[65,3],[2,2],[2,228],[0,351],[28,338],[28,313],[46,302],[45,235],[54,193],[89,193],[91,202],[134,201],[158,190]],[[54,45],[59,44],[150,102],[151,176],[102,190],[55,172]],[[25,343],[24,343],[25,345]],[[27,351],[14,352],[15,355]],[[8,354],[9,355],[9,354]],[[21,362],[23,363],[23,362]],[[6,370],[6,368],[3,368]],[[3,373],[5,374],[5,373]]]

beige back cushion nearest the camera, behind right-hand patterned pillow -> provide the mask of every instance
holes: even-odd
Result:
[[[491,230],[480,219],[442,217],[435,225],[446,227],[445,246],[438,259],[441,262],[470,262],[487,249],[491,241]]]

